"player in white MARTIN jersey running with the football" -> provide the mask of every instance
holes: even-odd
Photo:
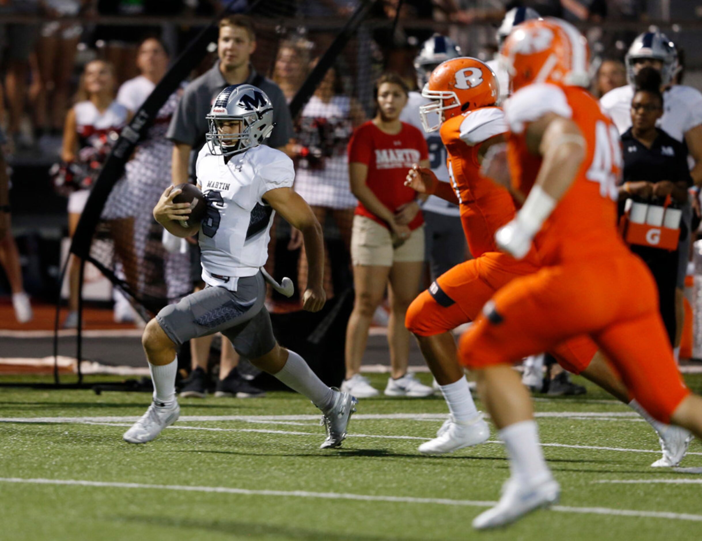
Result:
[[[326,439],[320,448],[340,446],[356,399],[333,390],[314,375],[305,360],[280,347],[265,309],[265,279],[270,226],[279,212],[303,233],[309,276],[303,309],[324,306],[322,226],[293,191],[293,162],[261,145],[273,129],[273,107],[263,91],[249,84],[227,86],[207,116],[208,144],[196,163],[197,182],[208,201],[205,218],[190,224],[190,203],[173,203],[180,193],[168,187],[154,218],[168,232],[187,237],[199,232],[204,290],[168,305],[146,326],[143,345],[154,382],[154,400],[124,439],[145,443],[178,420],[178,347],[187,340],[221,332],[234,349],[261,370],[307,396],[322,410]]]

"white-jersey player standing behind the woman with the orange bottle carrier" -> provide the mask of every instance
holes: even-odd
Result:
[[[634,98],[634,77],[644,66],[661,72],[663,80],[663,116],[658,127],[670,137],[687,144],[691,162],[690,175],[695,185],[702,185],[702,93],[691,86],[673,84],[677,69],[677,51],[668,36],[658,29],[644,32],[631,44],[625,58],[628,85],[620,86],[600,99],[600,105],[616,124],[620,134],[631,127],[631,101]],[[694,165],[693,165],[694,163]],[[692,210],[688,203],[683,207],[683,222],[690,227]],[[675,292],[677,332],[675,334],[675,357],[680,352],[685,271],[687,269],[690,236],[680,243],[680,262]]]

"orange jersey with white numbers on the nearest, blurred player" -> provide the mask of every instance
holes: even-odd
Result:
[[[542,160],[527,150],[524,132],[529,122],[548,112],[572,119],[586,149],[576,180],[534,239],[543,261],[553,264],[625,250],[616,230],[616,180],[622,167],[618,131],[584,88],[531,84],[508,100],[512,185],[525,196],[534,185]]]

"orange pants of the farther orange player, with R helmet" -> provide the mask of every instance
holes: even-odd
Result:
[[[413,300],[405,316],[405,326],[413,334],[431,336],[446,333],[467,321],[475,321],[497,290],[520,276],[538,272],[538,269],[534,263],[515,261],[498,252],[484,253],[464,261],[444,272],[428,290]],[[550,347],[548,351],[563,368],[579,374],[588,368],[597,346],[588,336],[581,336]]]

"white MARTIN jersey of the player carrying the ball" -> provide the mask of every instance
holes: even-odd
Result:
[[[195,171],[208,200],[198,236],[202,279],[210,283],[211,274],[253,276],[268,259],[275,214],[263,194],[293,186],[293,161],[279,150],[259,145],[225,163],[224,156],[211,154],[205,145]]]

